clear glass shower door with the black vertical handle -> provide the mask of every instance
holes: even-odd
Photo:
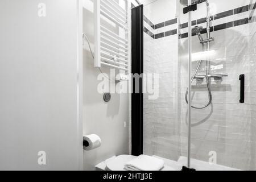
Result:
[[[256,169],[254,7],[255,1],[208,0],[191,13],[191,167],[197,170]]]

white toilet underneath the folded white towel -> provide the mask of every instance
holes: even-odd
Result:
[[[96,169],[104,170],[104,171],[126,171],[126,169],[124,169],[125,164],[134,158],[137,158],[137,156],[133,156],[133,155],[114,156],[113,158],[110,158],[105,162],[98,164],[96,166]],[[164,168],[161,171],[175,171],[175,169],[164,165]]]

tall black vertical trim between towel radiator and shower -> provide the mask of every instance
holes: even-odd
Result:
[[[143,5],[131,9],[131,73],[143,73]],[[131,94],[131,155],[143,154],[143,93],[142,79],[140,93]]]

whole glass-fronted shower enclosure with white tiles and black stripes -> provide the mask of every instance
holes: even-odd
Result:
[[[255,0],[141,2],[144,74],[159,76],[144,154],[174,170],[255,170]]]

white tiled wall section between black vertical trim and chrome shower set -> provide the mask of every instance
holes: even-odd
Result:
[[[152,14],[152,11],[155,11],[154,7],[158,7],[159,12],[164,2],[159,1],[160,5],[154,2],[144,7],[144,15],[150,20],[154,17],[152,23],[175,18],[175,14],[160,17]],[[166,5],[172,7],[171,2],[176,4],[176,1],[168,1]],[[168,13],[163,12],[163,14]],[[144,25],[154,34],[157,33],[146,23]],[[172,29],[177,27],[177,24],[172,25]],[[160,31],[164,31],[163,28],[160,28]],[[144,94],[144,153],[173,160],[179,159],[180,156],[176,86],[177,53],[178,35],[152,39],[144,33],[144,73],[159,73],[159,98],[148,100],[147,94]]]

